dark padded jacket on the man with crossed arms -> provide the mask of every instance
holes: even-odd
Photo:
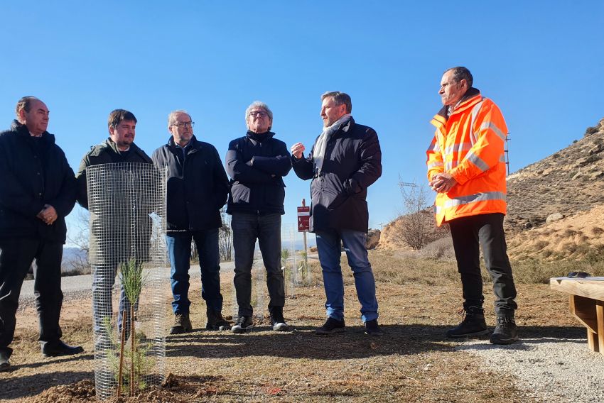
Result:
[[[236,138],[227,151],[227,172],[232,178],[227,213],[285,214],[283,177],[291,170],[287,146],[275,133],[254,133]]]

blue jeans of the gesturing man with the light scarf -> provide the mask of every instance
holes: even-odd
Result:
[[[365,245],[367,234],[361,231],[329,230],[317,231],[316,236],[319,262],[323,269],[327,316],[338,321],[344,319],[344,281],[340,267],[342,241],[348,264],[355,276],[357,297],[361,303],[361,319],[363,322],[377,319],[375,280]]]

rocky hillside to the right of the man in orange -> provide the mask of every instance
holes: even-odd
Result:
[[[507,177],[512,258],[578,259],[604,250],[604,119],[581,140]]]

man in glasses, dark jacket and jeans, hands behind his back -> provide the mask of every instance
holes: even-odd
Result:
[[[168,116],[172,137],[153,153],[153,163],[168,167],[167,234],[170,256],[172,309],[171,334],[193,330],[189,318],[189,268],[191,240],[199,251],[201,297],[206,303],[207,330],[230,329],[222,318],[218,228],[220,209],[227,202],[229,180],[216,148],[193,135],[191,116],[173,111]]]

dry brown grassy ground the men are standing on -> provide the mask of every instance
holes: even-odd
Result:
[[[458,323],[460,287],[454,262],[413,258],[404,253],[370,253],[377,279],[380,324],[386,334],[362,333],[350,269],[345,273],[347,331],[316,336],[324,320],[319,285],[298,288],[284,311],[294,327],[275,333],[266,323],[244,335],[201,330],[205,324],[199,282],[191,287],[193,333],[168,337],[167,368],[173,382],[133,402],[535,402],[513,377],[496,375],[480,359],[456,351],[443,337]],[[315,265],[314,278],[320,279]],[[319,281],[320,283],[320,281]],[[489,287],[485,287],[485,292]],[[568,315],[566,295],[546,285],[519,285],[517,323],[521,335],[583,335]],[[225,312],[230,295],[224,279]],[[166,303],[169,294],[166,293]],[[485,294],[488,304],[492,296]],[[89,304],[89,303],[88,303]],[[66,341],[90,341],[90,305],[67,304]],[[80,316],[72,315],[80,311]],[[492,314],[487,323],[492,326]],[[92,402],[92,355],[43,360],[36,343],[33,309],[18,317],[16,370],[0,375],[3,402]],[[79,383],[77,383],[79,382]],[[54,385],[66,385],[57,387]],[[54,386],[54,387],[53,387]]]

